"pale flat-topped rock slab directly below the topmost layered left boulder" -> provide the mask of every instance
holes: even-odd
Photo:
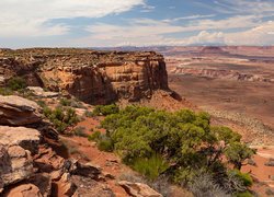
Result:
[[[20,146],[35,153],[41,141],[41,134],[36,129],[25,127],[0,126],[0,143],[3,146]]]

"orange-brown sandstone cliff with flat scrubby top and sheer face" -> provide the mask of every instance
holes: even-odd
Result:
[[[22,76],[28,85],[67,91],[91,104],[138,101],[168,90],[165,62],[153,51],[88,49],[0,50],[0,78]]]

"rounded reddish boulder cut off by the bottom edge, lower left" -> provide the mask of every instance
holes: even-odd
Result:
[[[7,192],[4,197],[43,197],[39,188],[33,184],[19,185]]]

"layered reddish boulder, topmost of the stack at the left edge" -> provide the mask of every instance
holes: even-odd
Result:
[[[33,101],[0,95],[0,125],[24,126],[42,120],[41,107]]]

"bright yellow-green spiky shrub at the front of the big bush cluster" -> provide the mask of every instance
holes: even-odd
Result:
[[[159,154],[152,154],[150,158],[137,158],[134,160],[132,167],[155,181],[161,173],[168,170],[169,164]]]

